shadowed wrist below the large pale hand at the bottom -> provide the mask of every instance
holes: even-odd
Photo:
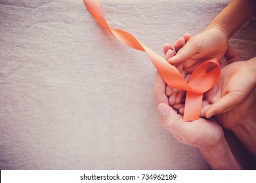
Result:
[[[198,150],[211,169],[242,169],[224,137],[215,146],[200,147]]]

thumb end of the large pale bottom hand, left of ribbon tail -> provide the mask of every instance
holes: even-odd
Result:
[[[165,103],[160,103],[160,105],[158,105],[158,110],[160,112],[160,116],[163,120],[163,126],[165,128],[169,128],[173,124],[175,124],[175,122],[179,121],[179,116],[177,112],[169,105],[166,105]]]

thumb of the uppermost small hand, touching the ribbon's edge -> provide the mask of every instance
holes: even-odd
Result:
[[[198,46],[194,45],[193,43],[194,41],[190,41],[190,40],[186,42],[186,44],[177,52],[175,56],[168,59],[169,63],[171,64],[180,63],[190,58],[194,54],[196,54],[196,52],[198,52]]]

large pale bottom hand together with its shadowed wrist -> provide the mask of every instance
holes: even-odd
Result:
[[[213,120],[199,118],[184,122],[168,103],[167,84],[156,73],[154,95],[158,107],[158,117],[163,125],[178,141],[197,147],[212,169],[241,169],[224,139],[223,129]]]

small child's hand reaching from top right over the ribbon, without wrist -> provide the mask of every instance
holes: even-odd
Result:
[[[228,48],[226,34],[217,27],[205,29],[186,42],[177,54],[168,59],[171,64],[183,64],[186,73],[192,73],[203,61],[210,58],[221,59]]]

